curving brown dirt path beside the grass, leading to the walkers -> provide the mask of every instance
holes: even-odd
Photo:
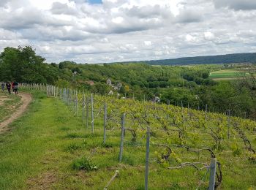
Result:
[[[21,101],[23,102],[23,104],[20,107],[18,107],[18,110],[16,110],[15,113],[12,113],[10,118],[7,118],[6,120],[0,123],[0,134],[6,132],[8,130],[7,126],[25,112],[26,108],[32,100],[30,94],[19,93],[19,96],[21,96]]]

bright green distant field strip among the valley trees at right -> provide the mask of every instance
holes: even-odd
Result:
[[[213,80],[233,80],[237,79],[240,77],[244,77],[249,75],[248,72],[241,72],[238,70],[232,70],[232,69],[227,69],[227,70],[220,70],[216,72],[211,72],[210,73],[210,78]]]

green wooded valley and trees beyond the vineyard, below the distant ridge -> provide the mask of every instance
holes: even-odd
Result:
[[[72,61],[45,63],[32,47],[6,47],[0,54],[0,81],[48,83],[78,88],[102,95],[146,99],[194,109],[206,109],[255,118],[256,83],[244,80],[214,81],[211,72],[220,69],[249,69],[255,64],[211,64],[193,66],[151,66],[130,64],[77,64]]]

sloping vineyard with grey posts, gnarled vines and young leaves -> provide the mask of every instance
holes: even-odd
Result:
[[[213,160],[215,188],[256,186],[255,121],[69,88],[20,87],[61,100],[80,122],[80,131],[66,137],[79,156],[72,170],[90,179],[80,177],[84,189],[207,189]]]

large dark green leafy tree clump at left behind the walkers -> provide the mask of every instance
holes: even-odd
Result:
[[[30,47],[6,47],[0,54],[0,80],[20,83],[54,83],[58,78],[56,67],[44,63]]]

